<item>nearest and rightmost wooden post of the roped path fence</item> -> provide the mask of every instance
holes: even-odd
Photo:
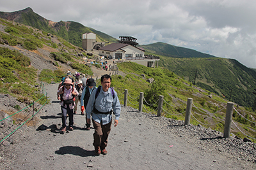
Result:
[[[233,109],[234,109],[234,103],[228,102],[223,138],[230,137],[230,127],[231,127],[231,122],[232,122]]]

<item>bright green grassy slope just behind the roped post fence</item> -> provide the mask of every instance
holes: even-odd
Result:
[[[207,90],[205,92],[199,92],[198,88],[192,86],[189,81],[183,80],[172,71],[168,71],[168,69],[160,67],[157,69],[152,69],[133,62],[124,62],[122,64],[118,64],[118,68],[121,71],[124,71],[127,75],[125,77],[113,76],[111,85],[115,87],[115,90],[118,92],[118,94],[122,94],[125,89],[128,90],[129,106],[138,108],[138,96],[140,95],[140,92],[143,92],[145,100],[147,101],[147,103],[144,102],[145,108],[143,108],[143,111],[156,114],[158,104],[156,102],[161,95],[164,96],[165,101],[163,103],[163,116],[175,118],[177,120],[184,120],[186,101],[188,97],[191,97],[193,98],[193,104],[195,104],[196,108],[199,108],[200,110],[198,111],[195,107],[193,107],[193,115],[196,117],[196,119],[203,124],[208,124],[206,127],[211,127],[212,129],[223,132],[224,122],[216,124],[217,122],[220,122],[220,119],[225,120],[226,110],[225,108],[223,109],[223,106],[225,107],[227,105],[227,101],[225,101],[223,97],[212,95],[212,98],[209,98],[208,96],[211,94],[211,92]],[[144,74],[145,78],[141,76],[141,74]],[[146,81],[148,78],[154,78],[154,83],[148,83]],[[119,97],[120,99],[124,98],[122,95],[119,95]],[[154,105],[150,106],[148,104]],[[239,110],[240,113],[256,117],[255,113],[250,113],[243,108],[236,109]],[[213,116],[209,116],[205,112],[215,114]],[[246,134],[255,137],[255,125],[250,124],[250,122],[246,122],[242,119],[243,118],[237,115],[237,113],[234,113],[233,120],[243,122],[244,125],[241,126],[248,130]],[[193,117],[191,117],[191,123],[195,125],[198,124],[198,122]],[[232,132],[240,137],[244,137],[243,134],[237,131],[237,129],[232,129]]]

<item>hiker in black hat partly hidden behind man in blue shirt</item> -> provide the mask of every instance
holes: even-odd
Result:
[[[96,83],[94,81],[93,78],[89,78],[87,80],[87,86],[86,88],[83,90],[83,93],[82,93],[82,96],[81,96],[81,111],[83,112],[84,111],[84,107],[86,108],[87,106],[87,103],[88,103],[88,100],[92,94],[92,91],[97,89],[96,87]],[[85,122],[86,122],[86,130],[87,131],[90,131],[91,129],[91,122],[90,123],[87,123],[87,115],[85,116]]]

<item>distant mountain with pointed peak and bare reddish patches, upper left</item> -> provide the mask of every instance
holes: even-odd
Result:
[[[103,32],[89,27],[84,27],[84,25],[79,24],[78,22],[52,22],[51,20],[47,20],[38,15],[31,8],[14,12],[0,12],[0,17],[55,34],[73,45],[80,47],[82,47],[82,34],[86,32],[93,32],[97,34],[97,41],[113,43],[117,40],[108,34],[104,34]]]

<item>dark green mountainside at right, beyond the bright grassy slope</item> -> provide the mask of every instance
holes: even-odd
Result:
[[[237,60],[216,57],[193,59],[161,57],[159,65],[167,67],[193,83],[196,77],[196,85],[225,96],[234,103],[253,106],[256,72]]]

